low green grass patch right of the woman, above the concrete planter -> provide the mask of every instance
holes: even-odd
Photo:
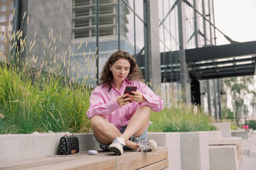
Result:
[[[196,109],[195,109],[196,108]],[[178,103],[176,107],[164,108],[160,113],[151,114],[151,132],[194,132],[215,130],[210,117],[200,107]]]

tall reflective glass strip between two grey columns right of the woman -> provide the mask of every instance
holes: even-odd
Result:
[[[181,84],[181,60],[179,55],[178,7],[175,0],[159,1],[159,47],[161,52],[161,81],[172,83],[172,89]],[[163,21],[161,23],[161,21]],[[160,24],[161,23],[161,24]]]

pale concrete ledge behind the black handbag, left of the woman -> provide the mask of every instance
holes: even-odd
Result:
[[[0,135],[0,163],[55,155],[60,137],[65,134],[68,133]],[[80,151],[99,149],[91,133],[75,135],[78,136]]]

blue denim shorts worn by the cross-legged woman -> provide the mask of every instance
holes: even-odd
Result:
[[[124,130],[126,130],[126,128],[127,128],[127,126],[123,126],[119,131],[123,134]],[[146,130],[139,137],[132,136],[132,137],[129,138],[129,140],[132,141],[132,142],[138,142],[139,140],[146,141],[148,128],[146,128]],[[97,137],[95,137],[95,138],[97,140]],[[105,150],[105,151],[109,151],[110,150],[110,145],[102,144],[99,140],[97,140],[97,143],[99,144],[100,149]],[[129,147],[125,147],[124,146],[124,150],[129,150]]]

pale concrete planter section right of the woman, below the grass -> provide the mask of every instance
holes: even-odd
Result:
[[[210,169],[208,141],[222,137],[222,132],[154,132],[148,139],[169,148],[169,169]]]

